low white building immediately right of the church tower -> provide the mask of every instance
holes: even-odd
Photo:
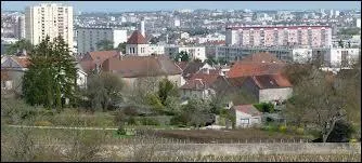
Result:
[[[199,59],[204,62],[207,59],[205,46],[165,46],[165,54],[174,57],[178,53],[186,52],[191,59]]]

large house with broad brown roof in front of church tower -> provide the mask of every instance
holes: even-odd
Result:
[[[148,80],[150,86],[157,86],[158,80],[167,78],[176,85],[185,83],[182,70],[167,56],[122,56],[108,58],[102,65],[103,71],[113,72],[121,78],[128,86],[134,87]]]

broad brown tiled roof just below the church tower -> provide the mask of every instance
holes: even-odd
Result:
[[[166,56],[124,56],[121,59],[108,58],[102,66],[104,71],[117,72],[126,78],[182,73],[182,70]]]

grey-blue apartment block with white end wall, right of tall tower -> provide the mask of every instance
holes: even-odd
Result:
[[[113,42],[113,47],[127,42],[127,30],[115,28],[78,28],[76,29],[78,53],[99,51],[96,43],[102,40]]]

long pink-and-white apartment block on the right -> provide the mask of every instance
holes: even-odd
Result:
[[[237,46],[332,46],[328,26],[227,27],[227,45]]]

